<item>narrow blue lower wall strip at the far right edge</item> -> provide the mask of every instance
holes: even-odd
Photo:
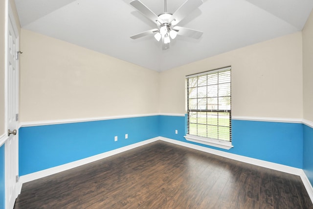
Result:
[[[303,125],[303,170],[313,185],[313,128]]]

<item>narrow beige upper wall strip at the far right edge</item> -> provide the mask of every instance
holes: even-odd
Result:
[[[313,12],[302,31],[303,118],[313,121]]]

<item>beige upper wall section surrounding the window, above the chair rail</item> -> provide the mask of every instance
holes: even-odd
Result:
[[[185,113],[185,75],[231,66],[232,116],[302,118],[301,32],[160,73],[160,113]]]

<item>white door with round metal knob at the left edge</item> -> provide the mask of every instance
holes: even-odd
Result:
[[[13,209],[18,195],[19,180],[19,34],[10,4],[8,4],[8,23],[6,36],[6,116],[9,138],[5,141],[5,208]]]

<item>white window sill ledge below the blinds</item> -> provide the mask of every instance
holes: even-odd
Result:
[[[192,135],[189,135],[189,134],[184,136],[184,138],[186,140],[188,140],[188,141],[193,141],[193,142],[197,142],[197,143],[201,143],[201,144],[215,146],[215,147],[219,147],[219,148],[222,148],[222,149],[230,149],[230,148],[234,147],[231,144],[231,141],[224,141],[224,140],[218,140],[218,139],[209,139],[209,138],[204,138],[204,137],[192,136]]]

